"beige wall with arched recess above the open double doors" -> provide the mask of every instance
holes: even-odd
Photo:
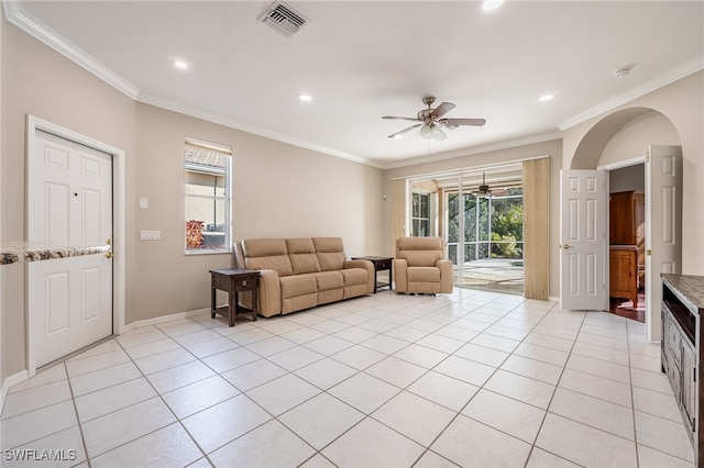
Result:
[[[619,121],[631,110],[634,118]],[[642,113],[639,110],[654,110]],[[614,126],[600,129],[604,122]],[[591,138],[592,154],[574,157],[578,148],[592,131],[603,135]],[[664,86],[627,104],[569,129],[563,134],[563,167],[592,168],[597,165],[630,159],[644,154],[649,144],[682,146],[683,156],[683,220],[682,272],[704,274],[704,71],[698,71]]]

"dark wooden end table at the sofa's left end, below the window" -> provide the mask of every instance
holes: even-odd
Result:
[[[251,314],[250,320],[256,321],[258,280],[257,270],[243,268],[210,270],[210,317],[215,319],[216,313],[219,313],[228,319],[229,326],[234,326],[238,315]],[[217,307],[216,290],[218,289],[228,293],[227,307]],[[252,291],[251,310],[240,305],[238,294],[244,291]]]

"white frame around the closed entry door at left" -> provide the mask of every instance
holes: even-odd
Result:
[[[112,245],[114,257],[112,258],[112,331],[114,334],[124,333],[124,304],[125,304],[125,271],[127,271],[127,215],[125,215],[125,197],[127,197],[127,161],[124,151],[80,133],[56,125],[54,123],[42,120],[37,116],[28,114],[26,116],[26,154],[29,161],[30,155],[36,145],[36,130],[51,133],[65,140],[79,143],[85,146],[92,147],[102,153],[112,156]],[[25,216],[29,223],[29,215]],[[25,226],[29,232],[29,226]],[[25,274],[25,278],[28,275]],[[25,282],[25,294],[29,296],[29,282]],[[29,310],[25,301],[25,339],[26,339],[26,366],[30,377],[36,374],[36,361],[34,349],[30,343],[30,320]]]

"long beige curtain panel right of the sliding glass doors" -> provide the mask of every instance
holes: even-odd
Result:
[[[550,158],[524,161],[524,296],[548,299],[550,283]]]

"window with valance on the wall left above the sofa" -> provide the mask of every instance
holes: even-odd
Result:
[[[186,254],[231,252],[231,159],[232,149],[187,138]]]

